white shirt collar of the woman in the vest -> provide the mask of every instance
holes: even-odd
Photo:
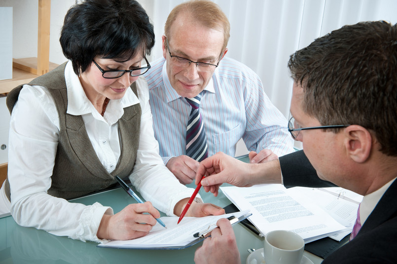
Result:
[[[65,67],[65,81],[68,93],[68,109],[66,112],[70,115],[92,114],[95,119],[103,120],[105,118],[107,123],[114,124],[124,114],[123,108],[139,103],[139,99],[134,92],[127,89],[123,98],[109,101],[105,116],[102,117],[85,95],[80,80],[73,71],[71,61]]]

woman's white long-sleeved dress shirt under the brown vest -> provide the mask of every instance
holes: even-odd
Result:
[[[128,89],[122,99],[109,101],[103,117],[86,97],[71,62],[66,66],[65,80],[67,113],[82,116],[94,150],[108,172],[113,171],[120,156],[117,121],[124,113],[123,108],[141,103],[139,148],[130,180],[145,200],[167,215],[174,215],[176,203],[190,197],[194,190],[181,185],[158,155],[145,79],[140,77],[136,81],[139,99]],[[110,207],[71,203],[47,194],[59,128],[58,112],[49,92],[41,86],[25,85],[10,120],[8,179],[12,202],[4,201],[4,195],[2,202],[8,202],[12,216],[21,226],[82,241],[100,241],[96,233],[102,216],[113,214]]]

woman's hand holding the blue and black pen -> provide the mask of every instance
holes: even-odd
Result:
[[[144,214],[148,213],[148,214]],[[146,235],[160,213],[151,202],[132,203],[115,215],[104,215],[97,236],[100,239],[129,240]]]

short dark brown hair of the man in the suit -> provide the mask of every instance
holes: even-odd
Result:
[[[397,156],[397,25],[344,26],[292,54],[288,66],[306,114],[323,126],[360,125]]]

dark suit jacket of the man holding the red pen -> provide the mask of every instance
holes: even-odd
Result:
[[[303,151],[280,157],[286,187],[329,187],[322,181]],[[397,176],[397,175],[396,175]],[[397,264],[397,181],[379,200],[357,236],[329,255],[323,264]]]

